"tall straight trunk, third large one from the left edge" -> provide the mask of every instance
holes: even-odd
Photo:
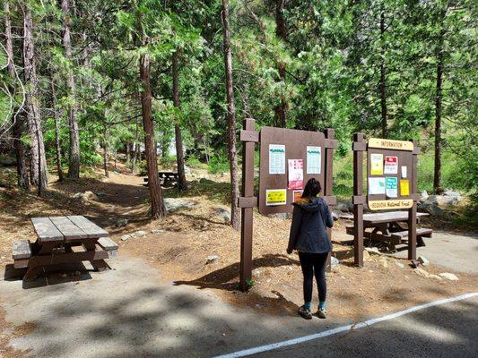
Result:
[[[65,58],[68,61],[72,60],[72,44],[70,37],[70,8],[68,0],[61,0],[61,10],[63,13],[63,47],[65,47]],[[68,104],[68,128],[70,132],[70,149],[69,149],[69,166],[68,177],[78,179],[80,177],[80,132],[78,129],[78,122],[75,116],[75,98],[74,98],[74,76],[73,70],[68,69],[66,79],[66,87],[68,89],[69,104]]]

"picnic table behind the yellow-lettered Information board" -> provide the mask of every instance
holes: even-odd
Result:
[[[417,212],[417,223],[420,217],[428,216],[428,213]],[[340,217],[353,220],[352,214],[342,214]],[[408,239],[408,229],[404,228],[401,223],[408,221],[407,211],[387,211],[380,213],[363,214],[364,237],[372,241],[386,241],[390,246],[404,243]],[[365,229],[371,228],[371,231]],[[347,234],[353,234],[353,226],[345,226]],[[425,246],[423,237],[431,237],[432,230],[424,227],[417,227],[417,243],[418,246]]]

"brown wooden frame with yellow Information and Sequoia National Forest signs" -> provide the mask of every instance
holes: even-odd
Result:
[[[409,195],[402,196],[399,190],[400,170],[397,175],[387,175],[397,178],[397,205],[399,209],[408,209],[408,259],[416,259],[416,223],[417,223],[417,160],[420,149],[417,141],[391,141],[385,139],[370,139],[369,143],[364,141],[363,133],[353,134],[353,254],[355,266],[363,266],[363,205],[367,201],[368,204],[379,201],[390,200],[385,194],[367,195],[363,194],[363,152],[367,155],[367,180],[369,183],[370,174],[370,155],[381,154],[384,157],[393,156],[398,158],[398,163],[406,166],[407,178],[409,178]],[[385,176],[382,174],[381,176]],[[401,207],[400,207],[401,205]],[[373,205],[372,205],[373,206]],[[385,209],[379,208],[375,209]]]

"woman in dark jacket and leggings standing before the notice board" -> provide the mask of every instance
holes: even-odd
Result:
[[[304,305],[299,314],[306,320],[312,319],[312,288],[314,275],[318,286],[317,316],[326,319],[326,260],[332,251],[332,243],[326,234],[326,227],[334,226],[334,220],[326,201],[317,198],[320,183],[309,179],[302,197],[295,202],[291,235],[287,253],[299,251],[300,267],[304,276]]]

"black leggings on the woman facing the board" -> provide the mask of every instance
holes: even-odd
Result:
[[[304,302],[312,301],[314,274],[317,280],[318,301],[325,302],[327,294],[326,261],[328,252],[309,253],[299,251],[300,267],[304,275]]]

